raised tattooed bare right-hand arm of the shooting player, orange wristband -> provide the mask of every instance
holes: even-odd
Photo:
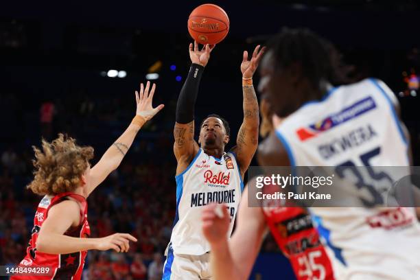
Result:
[[[253,75],[265,49],[263,47],[259,51],[259,47],[259,45],[255,47],[250,60],[248,60],[248,51],[244,51],[244,58],[241,64],[244,121],[242,121],[242,125],[237,134],[236,146],[232,150],[237,156],[242,177],[246,170],[248,170],[248,166],[253,159],[258,145],[259,110],[257,95],[255,95],[253,86]]]

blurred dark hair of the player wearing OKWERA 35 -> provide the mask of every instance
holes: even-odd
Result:
[[[345,67],[334,45],[310,30],[283,28],[268,40],[267,47],[273,51],[277,69],[297,62],[315,87],[323,79],[335,85],[347,83]]]

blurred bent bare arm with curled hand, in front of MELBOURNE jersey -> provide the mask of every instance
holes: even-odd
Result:
[[[237,226],[230,240],[229,213],[223,207],[223,218],[215,214],[215,207],[208,205],[202,213],[202,229],[211,245],[211,270],[214,280],[248,279],[261,248],[266,231],[264,215],[260,207],[248,207],[248,187],[242,195],[237,213]],[[244,246],[245,245],[245,246]]]

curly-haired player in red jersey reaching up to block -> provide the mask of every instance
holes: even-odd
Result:
[[[140,93],[135,92],[137,110],[126,131],[106,150],[91,168],[92,147],[76,145],[75,139],[59,135],[43,148],[34,148],[35,178],[28,186],[44,198],[38,205],[34,229],[27,255],[20,266],[47,266],[48,276],[21,276],[12,279],[81,279],[87,250],[128,252],[129,241],[137,242],[127,233],[115,233],[102,238],[89,238],[86,198],[113,172],[128,152],[137,132],[163,108],[152,107],[155,85],[150,82]],[[51,276],[53,276],[51,278]]]

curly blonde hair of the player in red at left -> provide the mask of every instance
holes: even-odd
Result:
[[[32,148],[35,178],[27,189],[42,196],[74,191],[80,186],[81,176],[93,158],[92,147],[76,145],[75,139],[61,133],[51,143],[43,139],[42,150]]]

